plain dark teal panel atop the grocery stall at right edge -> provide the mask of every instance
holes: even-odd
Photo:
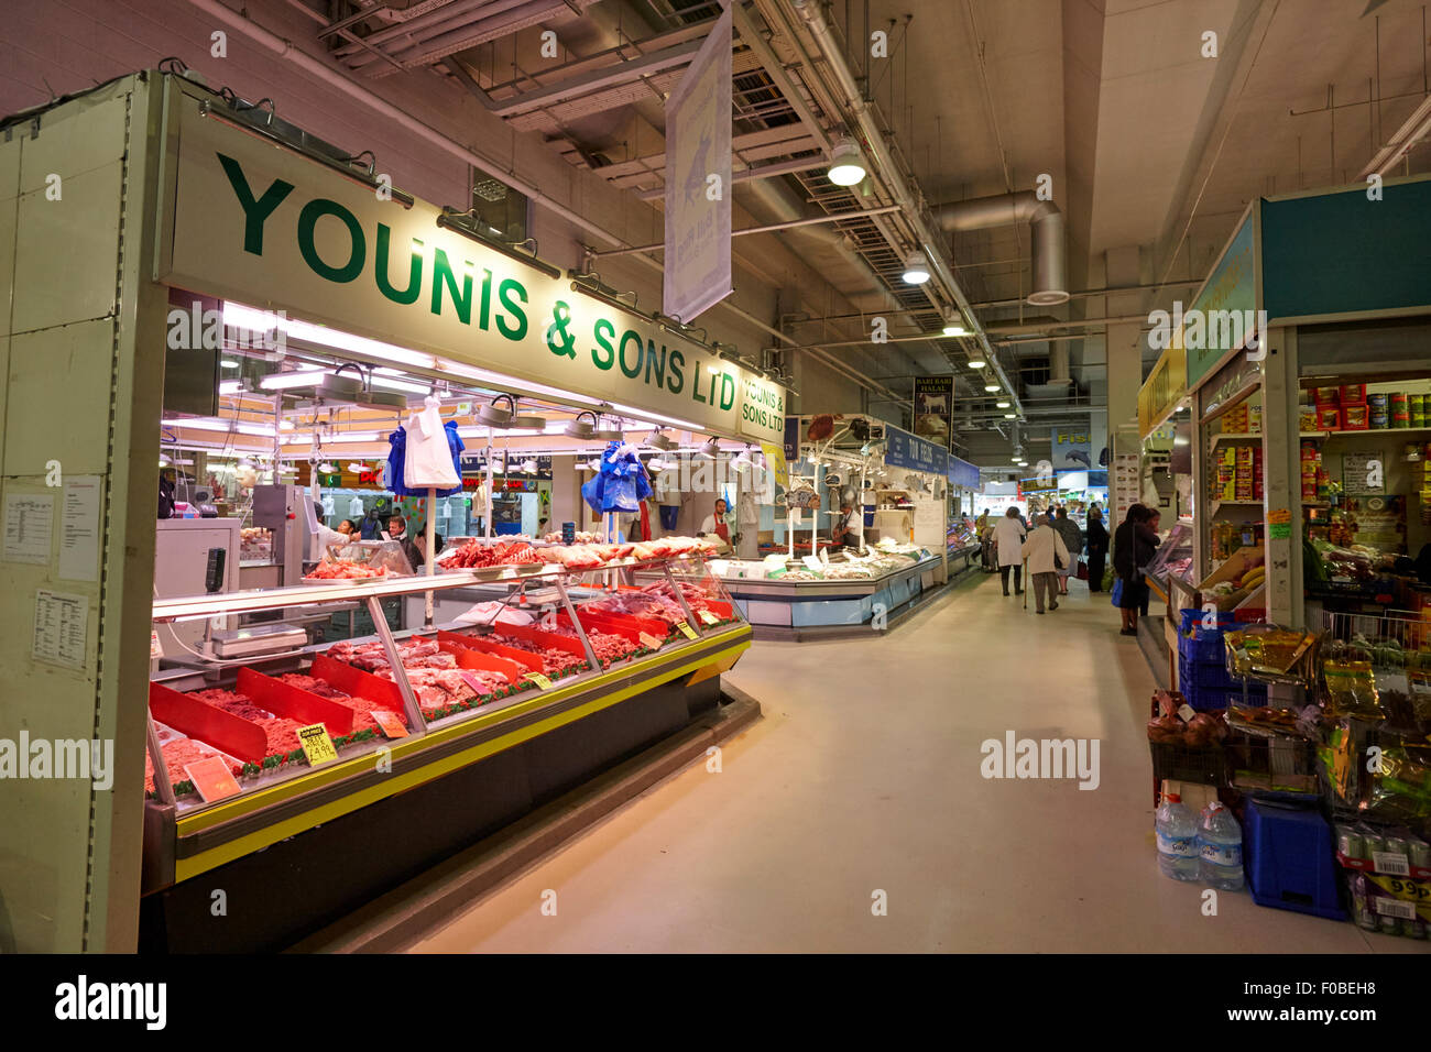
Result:
[[[1262,202],[1266,315],[1431,305],[1431,180]]]

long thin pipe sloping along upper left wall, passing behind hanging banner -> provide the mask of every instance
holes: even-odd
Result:
[[[283,59],[286,62],[293,63],[295,66],[298,66],[299,69],[302,69],[309,76],[313,76],[313,77],[316,77],[318,80],[321,80],[321,82],[323,82],[326,84],[338,87],[339,90],[342,90],[353,102],[358,102],[358,103],[366,106],[368,109],[373,110],[375,113],[386,117],[388,120],[392,120],[392,122],[401,125],[402,127],[405,127],[406,130],[412,132],[415,136],[418,136],[424,142],[426,142],[426,143],[435,146],[436,149],[439,149],[439,150],[442,150],[442,152],[445,152],[445,153],[448,153],[448,155],[451,155],[451,156],[462,160],[467,165],[472,165],[479,172],[485,172],[489,176],[501,179],[502,182],[505,182],[508,186],[511,186],[518,193],[522,193],[527,198],[529,198],[532,200],[532,203],[541,205],[542,208],[551,210],[552,215],[560,216],[561,219],[565,219],[568,223],[571,223],[577,229],[585,230],[587,233],[591,233],[591,235],[600,238],[601,240],[612,243],[612,245],[615,245],[618,248],[628,248],[630,246],[628,242],[622,240],[617,235],[614,235],[610,230],[604,229],[598,223],[594,223],[591,219],[587,219],[580,212],[567,208],[565,205],[562,205],[558,200],[554,200],[550,195],[544,193],[535,185],[532,185],[532,183],[524,180],[524,179],[519,179],[517,175],[514,175],[512,172],[509,172],[501,163],[498,163],[495,160],[491,160],[489,157],[485,157],[481,153],[477,153],[475,150],[468,149],[467,146],[464,146],[462,143],[459,143],[459,142],[456,142],[454,139],[448,139],[445,135],[442,135],[441,132],[438,132],[431,125],[426,125],[426,123],[418,120],[411,113],[408,113],[408,112],[405,112],[405,110],[394,106],[391,102],[388,102],[382,96],[379,96],[379,94],[368,90],[366,87],[363,87],[362,84],[359,84],[358,82],[355,82],[352,77],[343,76],[339,70],[336,70],[332,66],[329,66],[329,64],[326,64],[326,63],[315,59],[312,54],[309,54],[308,52],[302,50],[296,44],[293,44],[293,42],[286,40],[285,37],[280,37],[276,33],[272,33],[272,31],[263,29],[262,26],[259,26],[255,21],[250,21],[248,19],[248,16],[240,14],[239,11],[233,10],[232,7],[228,7],[228,6],[222,4],[222,3],[219,3],[219,0],[189,0],[189,4],[193,6],[193,7],[196,7],[196,9],[199,9],[199,10],[202,10],[202,11],[205,11],[209,17],[218,20],[219,23],[222,23],[222,24],[225,24],[225,26],[228,26],[228,27],[230,27],[233,30],[238,30],[239,33],[245,34],[246,37],[249,37],[250,40],[253,40],[255,43],[258,43],[259,46],[262,46],[263,49],[266,49],[268,52],[273,53],[279,59]],[[657,262],[655,259],[653,259],[651,256],[635,256],[635,259],[638,259],[647,268],[651,268],[651,269],[655,269],[655,271],[663,271],[661,263]],[[774,328],[773,325],[767,325],[766,322],[763,322],[760,318],[757,318],[756,315],[750,313],[748,311],[744,311],[744,309],[736,306],[728,299],[727,301],[721,301],[720,303],[717,303],[717,306],[724,308],[726,311],[730,311],[737,318],[743,318],[744,321],[747,321],[751,325],[754,325],[756,328],[758,328],[761,332],[767,332],[767,333],[776,336],[781,344],[794,345],[794,344],[798,342],[798,341],[793,339],[791,336],[787,336],[786,333],[783,333],[780,329]],[[890,395],[894,394],[894,392],[889,391],[887,388],[884,388],[883,385],[880,385],[876,379],[873,379],[870,376],[864,376],[863,374],[859,374],[859,371],[856,371],[853,368],[850,368],[849,371],[850,372],[856,372],[859,376],[861,376],[861,379],[857,381],[857,382],[860,382],[863,386],[867,386],[869,389],[877,391],[877,392],[881,392],[881,394],[890,394]],[[904,399],[904,401],[907,401],[907,399]]]

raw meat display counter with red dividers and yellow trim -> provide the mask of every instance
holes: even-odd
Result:
[[[381,600],[429,590],[474,601],[394,631]],[[751,641],[698,551],[160,600],[155,623],[341,601],[376,633],[152,676],[143,950],[293,945],[714,710]],[[215,926],[218,890],[263,909]]]

